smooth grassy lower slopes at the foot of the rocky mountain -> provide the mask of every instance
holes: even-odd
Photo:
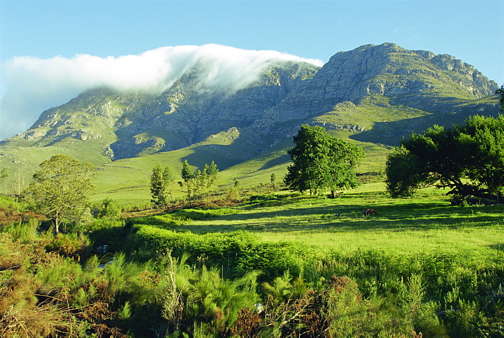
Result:
[[[357,106],[343,106],[337,109],[335,107],[335,111],[318,116],[312,122],[326,123],[332,136],[363,147],[367,156],[357,172],[364,173],[383,170],[391,148],[384,145],[396,145],[412,130],[421,132],[433,124],[462,123],[470,114],[480,113],[480,109],[496,102],[496,97],[487,97],[464,102],[449,113],[432,114],[403,105],[394,105],[384,96],[373,95],[361,100]],[[345,124],[362,125],[365,130],[352,132],[338,127]],[[331,128],[331,126],[337,127]],[[68,154],[99,166],[97,193],[91,197],[92,201],[110,197],[125,204],[137,204],[150,200],[149,179],[156,163],[170,167],[174,177],[174,197],[183,196],[176,182],[180,180],[181,164],[185,159],[194,165],[195,169],[215,161],[221,171],[216,182],[220,187],[232,186],[236,179],[240,181],[241,186],[269,183],[272,173],[275,173],[277,182],[280,182],[289,164],[290,159],[286,151],[292,147],[292,139],[284,139],[263,154],[244,162],[233,156],[243,152],[239,138],[230,138],[226,132],[192,147],[114,162],[101,155],[102,145],[95,140],[82,141],[68,137],[61,140],[57,146],[34,145],[29,148],[25,148],[28,144],[22,146],[5,150],[3,151],[5,155],[0,156],[0,167],[5,166],[10,175],[7,185],[11,190],[14,189],[14,180],[17,176],[20,177],[17,178],[18,183],[20,181],[22,183],[24,179],[26,184],[34,172],[33,168],[39,163],[55,154]]]

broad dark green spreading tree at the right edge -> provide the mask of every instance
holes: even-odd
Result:
[[[414,133],[388,156],[385,171],[393,197],[434,186],[449,188],[454,199],[498,200],[504,191],[504,115],[474,115],[453,128]]]

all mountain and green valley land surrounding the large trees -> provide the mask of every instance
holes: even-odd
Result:
[[[96,88],[0,142],[0,335],[504,335],[504,206],[451,206],[432,187],[392,198],[384,174],[412,133],[498,116],[497,84],[392,43],[259,75],[209,89],[202,62],[162,93]],[[302,124],[362,148],[358,187],[284,185]],[[56,154],[97,174],[82,218],[57,234],[19,198]],[[219,169],[196,197],[184,161]],[[171,179],[156,209],[157,165]]]

